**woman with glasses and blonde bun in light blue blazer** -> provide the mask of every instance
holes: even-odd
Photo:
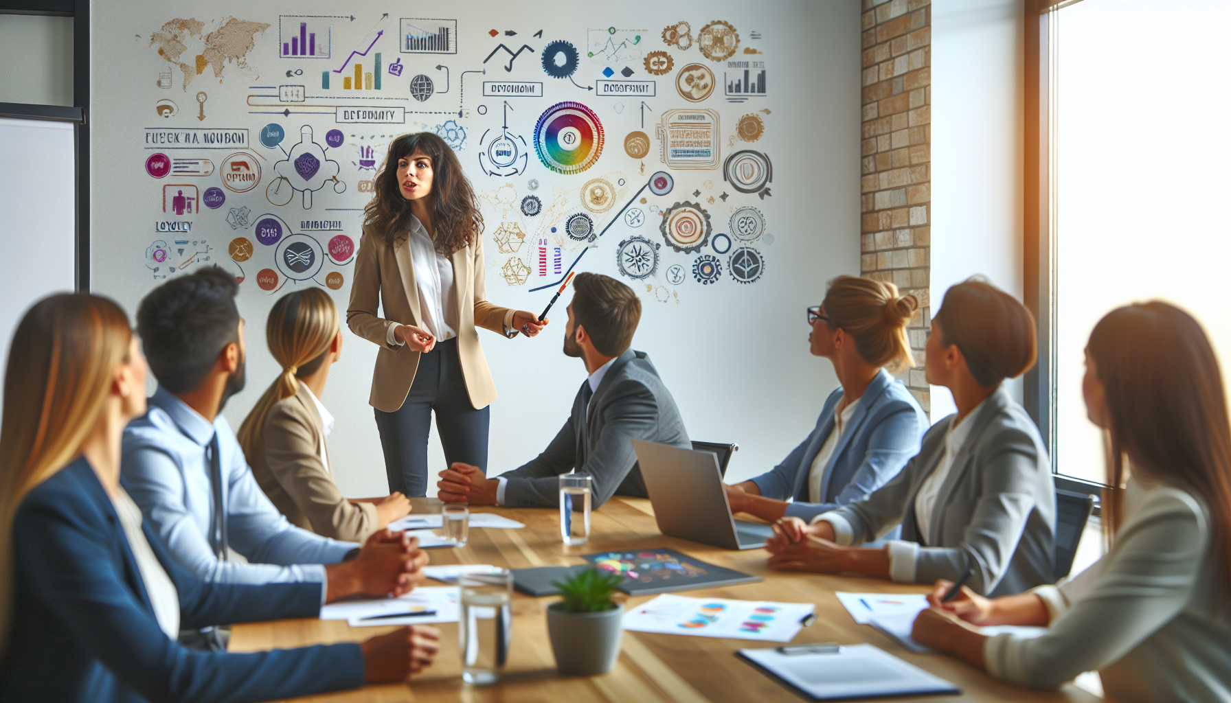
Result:
[[[912,366],[906,325],[917,309],[915,295],[899,295],[892,283],[853,276],[830,282],[825,302],[808,309],[809,341],[842,385],[780,464],[726,486],[732,511],[808,521],[868,497],[918,453],[927,415],[885,371]]]

